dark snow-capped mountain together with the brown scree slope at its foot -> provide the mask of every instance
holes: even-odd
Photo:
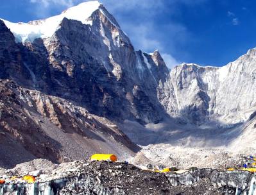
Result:
[[[0,37],[3,165],[96,152],[128,158],[139,147],[112,122],[165,115],[157,86],[169,72],[160,53],[135,51],[98,1],[28,24],[0,21]]]

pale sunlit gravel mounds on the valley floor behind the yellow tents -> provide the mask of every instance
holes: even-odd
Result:
[[[256,154],[250,154],[256,157]],[[165,165],[188,169],[189,167],[226,169],[228,167],[242,167],[252,164],[250,155],[240,155],[225,151],[225,149],[182,148],[170,144],[151,144],[142,147],[130,162],[143,167],[147,164]]]

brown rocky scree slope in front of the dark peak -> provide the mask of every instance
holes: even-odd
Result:
[[[128,158],[139,147],[117,126],[81,106],[0,80],[0,166],[47,158],[83,160],[93,153]]]

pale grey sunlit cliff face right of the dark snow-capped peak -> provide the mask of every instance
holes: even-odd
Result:
[[[255,110],[255,49],[224,67],[182,64],[160,99],[171,115],[193,123],[244,123]]]

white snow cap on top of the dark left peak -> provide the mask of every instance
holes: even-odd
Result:
[[[12,23],[4,19],[2,20],[4,21],[4,24],[10,28],[17,42],[33,42],[35,38],[47,38],[53,36],[64,17],[81,21],[83,24],[92,25],[87,19],[94,11],[99,9],[100,5],[101,3],[99,3],[99,1],[84,2],[65,10],[60,15],[28,23]]]

